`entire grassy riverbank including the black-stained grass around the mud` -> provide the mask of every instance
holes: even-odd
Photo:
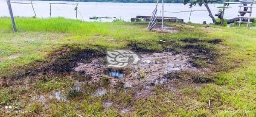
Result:
[[[0,18],[1,115],[256,114],[253,27],[168,23],[177,33],[157,33],[148,31],[144,22],[22,17],[15,21],[18,32],[12,33],[10,19]],[[147,69],[124,69],[125,78],[113,78],[103,68],[105,50],[112,49],[130,49],[152,58],[150,67],[166,64],[164,58],[155,59],[160,54],[192,69],[156,75],[157,84],[148,82],[155,74]],[[81,65],[90,65],[99,75],[95,71],[88,75]],[[134,82],[140,84],[127,85]],[[5,106],[19,109],[6,111]]]

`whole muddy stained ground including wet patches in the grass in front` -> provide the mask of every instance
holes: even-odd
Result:
[[[53,77],[68,77],[75,81],[68,91],[55,91],[47,95],[31,95],[31,101],[48,99],[69,101],[80,94],[91,96],[108,95],[118,90],[132,90],[134,100],[155,95],[156,86],[164,86],[177,92],[184,85],[200,87],[201,83],[212,82],[215,74],[212,66],[215,58],[220,56],[215,46],[221,39],[201,41],[199,39],[182,39],[179,42],[155,42],[162,49],[151,50],[148,42],[131,41],[127,49],[133,50],[140,58],[151,63],[130,65],[124,69],[106,67],[105,48],[64,46],[49,55],[49,61],[34,61],[23,69],[17,68],[15,74],[1,76],[1,87],[33,85],[39,81],[49,81]],[[183,43],[181,45],[180,43]],[[84,85],[93,85],[93,91],[87,92]],[[113,101],[106,101],[103,106],[110,107]],[[117,106],[116,106],[117,107]],[[130,107],[120,109],[127,113]]]

